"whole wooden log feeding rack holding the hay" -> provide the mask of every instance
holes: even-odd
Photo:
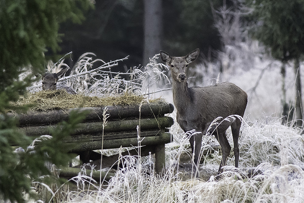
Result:
[[[103,127],[104,110],[109,115]],[[53,110],[48,112],[29,112],[27,114],[12,114],[17,117],[20,129],[28,136],[39,137],[50,135],[50,129],[57,123],[67,120],[69,113],[76,109]],[[82,164],[90,163],[98,168],[117,165],[119,155],[105,156],[93,150],[111,149],[120,147],[141,147],[140,155],[155,154],[155,171],[161,174],[165,168],[165,144],[172,141],[168,127],[173,124],[171,117],[165,114],[172,113],[172,104],[158,101],[140,105],[107,106],[94,108],[77,108],[78,112],[87,111],[83,123],[78,125],[73,135],[65,142],[71,153],[80,155]],[[122,153],[124,155],[138,155],[138,148]],[[102,164],[101,164],[102,157]],[[60,176],[71,177],[77,175],[81,165],[65,168]],[[87,169],[90,169],[86,165]],[[108,173],[105,180],[109,180]],[[99,180],[99,176],[98,176]]]

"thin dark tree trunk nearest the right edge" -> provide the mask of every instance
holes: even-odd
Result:
[[[302,92],[301,92],[301,75],[300,75],[300,62],[299,58],[295,58],[295,119],[296,126],[300,127],[303,125],[303,114],[302,114]]]

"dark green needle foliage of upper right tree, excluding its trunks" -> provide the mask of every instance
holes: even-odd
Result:
[[[254,8],[251,32],[270,48],[271,55],[282,61],[304,53],[304,0],[248,1]]]

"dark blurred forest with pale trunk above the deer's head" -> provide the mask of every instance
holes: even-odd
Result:
[[[76,61],[92,52],[105,61],[124,58],[127,68],[146,65],[149,58],[166,50],[185,55],[200,48],[202,56],[214,60],[223,48],[213,12],[233,1],[97,1],[81,25],[67,21],[60,25],[63,33],[60,54],[73,52]]]

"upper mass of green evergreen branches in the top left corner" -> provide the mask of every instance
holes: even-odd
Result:
[[[81,9],[91,5],[87,0],[0,1],[0,91],[18,78],[20,67],[32,65],[41,72],[43,52],[59,50],[59,23],[71,19],[80,23],[84,19]]]

